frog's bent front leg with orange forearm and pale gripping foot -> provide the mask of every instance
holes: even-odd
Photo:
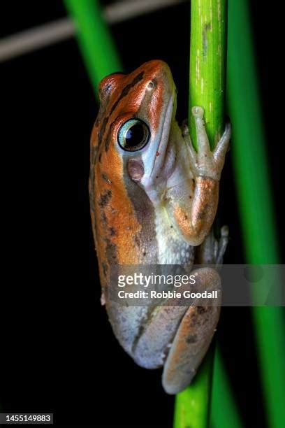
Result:
[[[191,245],[200,245],[203,242],[214,221],[219,199],[221,170],[231,138],[231,126],[227,124],[223,136],[211,152],[203,113],[201,107],[192,108],[196,123],[198,152],[193,148],[189,133],[184,132],[184,140],[189,152],[189,166],[194,180],[193,197],[185,192],[185,185],[181,186],[181,192],[179,186],[170,188],[167,192],[170,220]]]

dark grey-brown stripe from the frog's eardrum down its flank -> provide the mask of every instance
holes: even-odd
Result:
[[[133,236],[133,241],[140,250],[138,264],[156,264],[158,262],[158,243],[156,241],[154,206],[145,190],[129,178],[129,174],[126,172],[127,161],[128,159],[124,159],[124,183],[136,218],[142,227],[140,232]]]

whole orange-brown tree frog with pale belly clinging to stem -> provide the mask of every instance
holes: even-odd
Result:
[[[189,385],[210,346],[218,306],[123,306],[108,294],[112,266],[187,265],[196,260],[203,287],[219,287],[228,231],[212,224],[231,125],[211,151],[204,110],[191,109],[197,150],[187,123],[175,118],[177,89],[166,62],[151,60],[129,74],[112,73],[98,87],[92,129],[89,198],[101,282],[101,304],[117,340],[145,369],[163,369],[176,394]],[[167,302],[166,302],[167,303]]]

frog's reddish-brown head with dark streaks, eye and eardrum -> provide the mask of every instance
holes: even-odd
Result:
[[[115,73],[99,87],[100,111],[93,131],[96,164],[115,185],[137,183],[155,199],[173,170],[168,144],[176,112],[176,90],[165,62],[142,64],[128,75]]]

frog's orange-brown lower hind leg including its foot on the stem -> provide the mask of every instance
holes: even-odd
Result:
[[[201,290],[220,290],[221,281],[216,269],[223,263],[224,252],[228,245],[228,227],[221,228],[219,241],[214,237],[213,229],[205,241],[196,250],[196,264],[211,264],[197,269]],[[195,272],[195,271],[193,271]],[[180,327],[170,348],[163,370],[163,387],[168,394],[184,390],[200,365],[212,341],[219,320],[221,294],[210,306],[190,306],[184,314]]]

